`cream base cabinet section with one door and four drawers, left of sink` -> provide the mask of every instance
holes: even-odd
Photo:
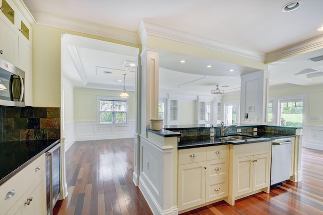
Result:
[[[180,211],[228,195],[228,145],[180,150],[178,163]]]

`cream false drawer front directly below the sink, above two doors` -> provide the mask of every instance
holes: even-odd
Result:
[[[254,144],[240,144],[236,146],[236,157],[245,157],[269,153],[272,149],[272,142],[255,142]]]

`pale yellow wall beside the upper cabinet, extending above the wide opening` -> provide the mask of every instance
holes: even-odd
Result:
[[[58,28],[35,25],[32,34],[33,106],[61,107],[61,35],[69,33],[140,48],[121,42]]]

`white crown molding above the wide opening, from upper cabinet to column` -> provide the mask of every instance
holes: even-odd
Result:
[[[139,44],[137,32],[127,31],[116,27],[102,25],[93,22],[87,22],[80,19],[73,19],[70,17],[57,16],[50,13],[42,13],[31,11],[37,24],[59,28],[69,31],[75,31],[118,41]]]

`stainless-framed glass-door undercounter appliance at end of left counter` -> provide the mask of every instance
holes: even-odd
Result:
[[[46,198],[47,215],[53,214],[53,207],[60,197],[61,143],[46,152]]]

